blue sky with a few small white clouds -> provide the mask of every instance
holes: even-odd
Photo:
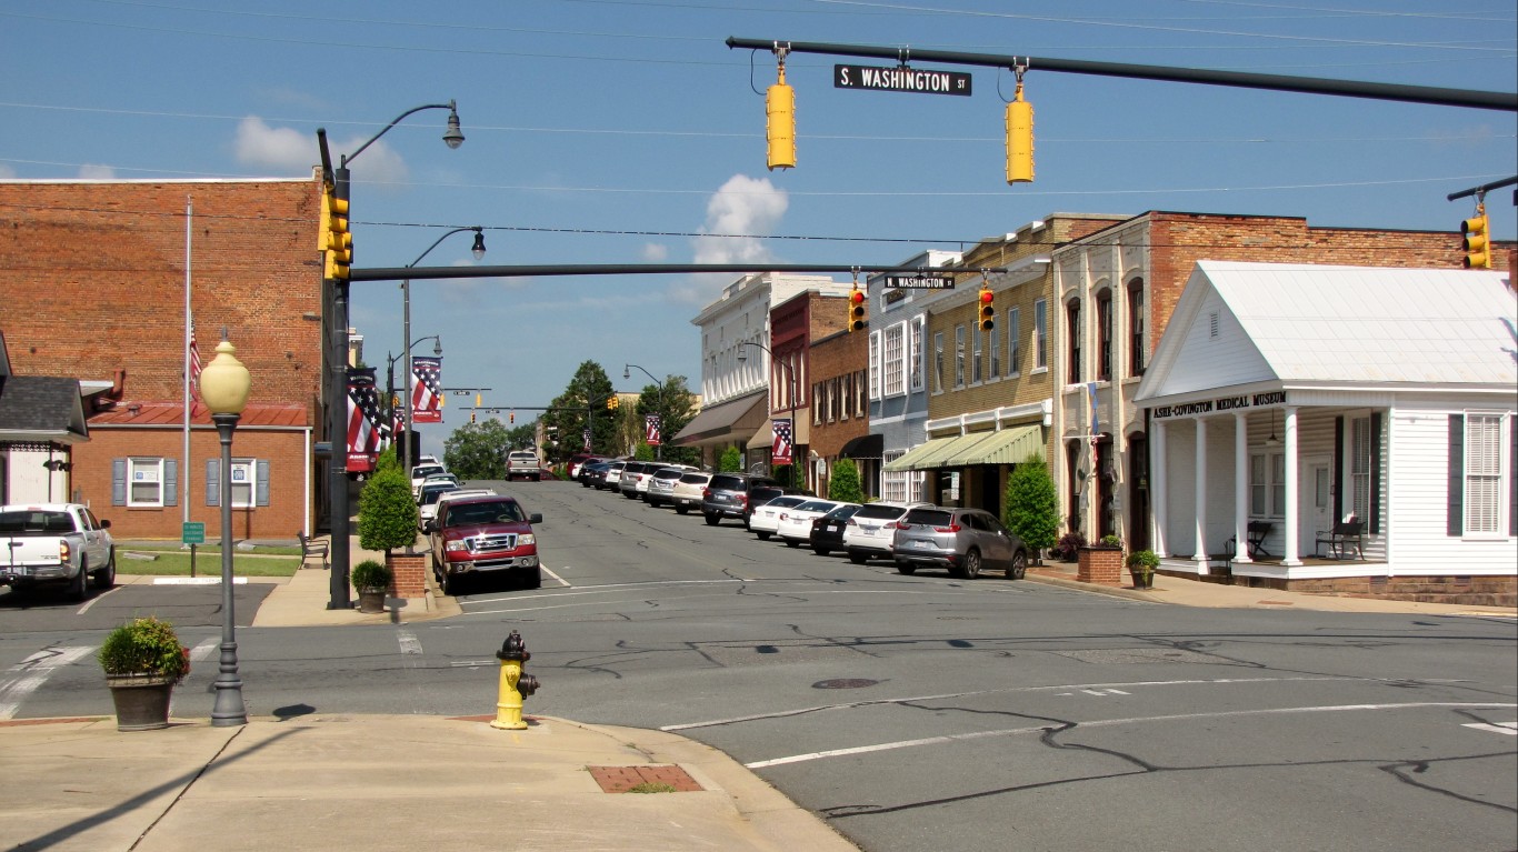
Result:
[[[833,88],[791,55],[797,167],[765,169],[770,52],[729,36],[1087,59],[1518,91],[1512,0],[0,0],[0,179],[302,178],[352,163],[355,263],[399,267],[481,226],[483,264],[893,266],[1052,213],[1301,216],[1313,226],[1457,231],[1454,191],[1518,173],[1506,111],[1025,76],[1037,179],[1003,173],[1008,71],[973,96]],[[46,129],[46,132],[39,132]],[[1512,188],[1488,196],[1518,232]],[[314,240],[313,240],[314,243]],[[469,234],[419,266],[471,266]],[[836,276],[839,281],[847,276]],[[618,390],[685,375],[691,319],[736,276],[465,278],[411,284],[445,387],[489,387],[518,424],[584,360]],[[399,355],[396,282],[352,286],[364,358]],[[431,340],[414,354],[431,354]],[[381,377],[383,381],[383,377]],[[449,407],[472,404],[451,398]],[[424,425],[440,451],[461,418]]]

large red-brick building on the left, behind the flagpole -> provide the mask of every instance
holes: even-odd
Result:
[[[184,457],[187,290],[205,363],[225,327],[252,374],[232,443],[234,535],[313,529],[325,484],[311,454],[317,200],[316,179],[0,181],[11,368],[80,380],[90,440],[68,448],[67,492],[117,538],[176,539],[185,516],[220,535],[220,445],[203,405],[191,407]]]

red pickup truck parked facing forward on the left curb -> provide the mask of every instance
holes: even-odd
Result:
[[[430,536],[437,585],[451,595],[458,592],[466,576],[507,574],[528,589],[542,586],[533,533],[533,524],[542,522],[540,513],[527,513],[513,497],[465,497],[443,503],[437,518],[422,527]]]

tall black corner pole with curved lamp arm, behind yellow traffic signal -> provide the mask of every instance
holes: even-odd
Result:
[[[364,152],[370,144],[380,137],[386,135],[390,128],[399,125],[407,115],[413,112],[420,112],[422,109],[448,109],[448,129],[443,131],[443,143],[448,147],[455,149],[465,141],[463,132],[458,129],[458,109],[457,102],[449,100],[448,103],[425,103],[422,106],[413,106],[405,112],[395,117],[393,121],[386,125],[378,134],[369,137],[369,141],[358,146],[352,153],[345,153],[339,159],[337,169],[331,170],[332,181],[332,196],[340,200],[349,200],[349,173],[348,164],[352,163],[360,153]],[[326,179],[325,172],[331,167],[331,155],[326,150],[326,129],[317,128],[316,131],[317,143],[322,149],[322,169],[323,179]],[[326,361],[328,369],[331,369],[331,377],[328,380],[326,398],[326,434],[331,445],[329,451],[329,477],[328,477],[328,513],[331,515],[332,527],[332,576],[329,585],[329,600],[326,601],[328,609],[351,609],[352,600],[348,594],[348,562],[349,562],[349,542],[348,542],[348,279],[346,278],[325,278],[323,279],[323,299],[328,308],[329,320],[329,337],[326,340]]]

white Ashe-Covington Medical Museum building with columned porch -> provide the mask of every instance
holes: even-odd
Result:
[[[1199,261],[1134,399],[1163,570],[1513,591],[1506,272]]]

